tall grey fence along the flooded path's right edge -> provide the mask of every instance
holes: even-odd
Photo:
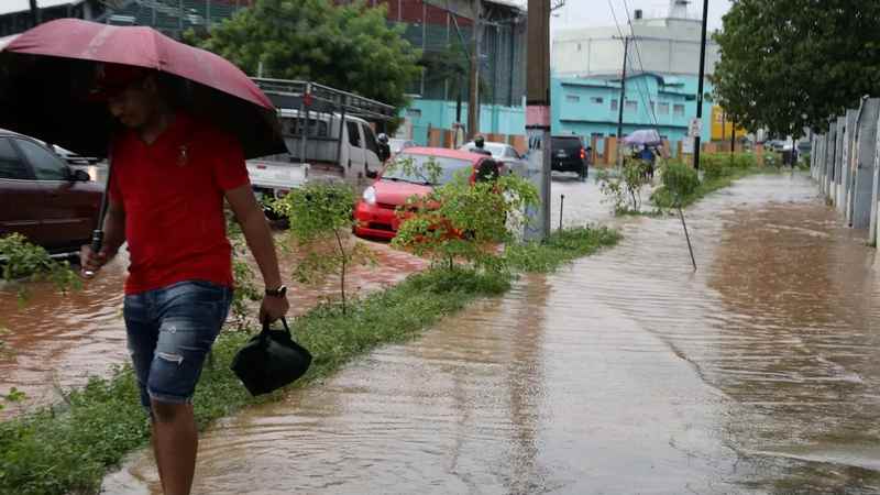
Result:
[[[828,130],[811,140],[810,168],[820,190],[846,224],[880,241],[880,98],[864,98],[858,108],[829,120]]]

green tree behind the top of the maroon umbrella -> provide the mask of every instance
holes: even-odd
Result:
[[[421,54],[389,26],[385,7],[329,0],[257,0],[188,40],[233,62],[245,73],[309,79],[404,107],[405,89],[419,77]]]

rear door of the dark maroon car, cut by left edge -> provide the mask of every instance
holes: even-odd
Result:
[[[20,233],[35,244],[48,239],[40,220],[43,189],[8,136],[0,136],[0,237]]]

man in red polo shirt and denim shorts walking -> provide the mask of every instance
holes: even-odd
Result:
[[[226,200],[266,285],[261,320],[289,304],[275,246],[248,179],[238,140],[180,110],[160,73],[106,65],[95,95],[123,131],[112,141],[105,243],[82,246],[97,272],[128,242],[124,318],[141,403],[167,495],[189,494],[198,439],[191,398],[232,298]]]

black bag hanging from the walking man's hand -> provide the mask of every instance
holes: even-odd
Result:
[[[302,376],[311,364],[311,354],[290,336],[287,320],[284,330],[263,331],[235,353],[230,366],[251,395],[268,394]]]

